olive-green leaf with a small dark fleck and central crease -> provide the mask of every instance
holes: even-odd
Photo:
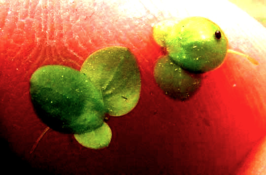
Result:
[[[140,73],[136,59],[126,47],[106,47],[84,62],[81,72],[100,88],[104,106],[112,116],[130,112],[140,95]]]

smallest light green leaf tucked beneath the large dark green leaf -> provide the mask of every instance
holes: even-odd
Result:
[[[74,134],[75,139],[83,146],[92,149],[107,147],[112,138],[112,131],[107,123],[91,132],[83,134]]]

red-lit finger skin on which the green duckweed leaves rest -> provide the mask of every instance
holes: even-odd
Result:
[[[224,175],[265,136],[266,29],[233,4],[17,1],[0,1],[0,135],[34,168],[61,174]],[[167,97],[153,78],[163,51],[153,40],[152,25],[188,16],[217,23],[230,48],[260,65],[228,54],[219,69],[203,75],[189,100]],[[109,147],[88,149],[72,135],[50,130],[31,155],[46,128],[31,103],[32,73],[49,64],[80,70],[91,53],[112,45],[128,47],[136,56],[142,89],[130,113],[107,122],[113,134]]]

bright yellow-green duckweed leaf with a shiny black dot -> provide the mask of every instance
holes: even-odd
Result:
[[[223,63],[228,40],[222,29],[212,21],[189,17],[172,27],[165,38],[165,45],[171,60],[181,68],[205,72]]]

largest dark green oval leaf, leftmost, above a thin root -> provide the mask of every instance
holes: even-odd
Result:
[[[84,73],[49,65],[37,69],[30,82],[36,113],[52,129],[76,134],[102,126],[101,92]]]

